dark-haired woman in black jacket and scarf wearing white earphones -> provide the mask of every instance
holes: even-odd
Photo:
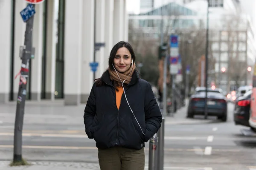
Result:
[[[96,141],[101,170],[144,170],[144,142],[161,126],[151,85],[140,79],[135,59],[128,42],[114,45],[84,109],[85,132]]]

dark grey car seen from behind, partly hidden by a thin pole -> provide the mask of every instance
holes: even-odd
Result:
[[[205,88],[196,90],[189,99],[187,117],[194,115],[204,115]],[[219,89],[207,89],[207,113],[209,116],[217,116],[221,121],[227,121],[227,100]]]

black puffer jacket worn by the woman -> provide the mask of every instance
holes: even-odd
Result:
[[[116,92],[106,71],[102,80],[103,86],[95,83],[84,109],[85,132],[90,139],[96,141],[96,147],[105,149],[115,145],[141,149],[144,142],[157,133],[161,126],[162,114],[157,105],[151,85],[139,78],[136,71],[122,94],[119,110],[116,107]]]

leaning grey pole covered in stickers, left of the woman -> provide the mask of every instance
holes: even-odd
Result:
[[[35,5],[32,5],[35,8]],[[20,70],[20,83],[19,91],[17,95],[17,106],[15,116],[15,128],[14,128],[14,153],[13,162],[22,161],[22,130],[23,130],[23,118],[24,108],[26,100],[26,82],[29,78],[29,61],[31,59],[32,52],[32,31],[33,31],[34,15],[26,21],[26,31],[23,53],[21,57],[21,70]]]

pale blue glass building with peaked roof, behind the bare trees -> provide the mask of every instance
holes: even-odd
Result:
[[[169,3],[145,13],[129,15],[129,24],[135,29],[139,28],[147,34],[148,38],[153,39],[158,39],[160,36],[161,20],[163,20],[163,32],[165,33],[171,33],[172,29],[200,27],[202,21],[197,17],[196,11],[179,3]]]

